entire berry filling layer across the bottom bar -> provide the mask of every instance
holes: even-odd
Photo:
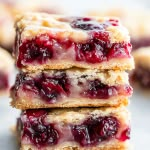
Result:
[[[81,124],[58,124],[46,122],[47,115],[46,109],[26,110],[21,114],[17,128],[23,141],[28,141],[38,148],[67,141],[75,141],[86,147],[96,146],[111,139],[126,141],[130,138],[129,128],[120,135],[120,122],[114,116],[91,116]]]

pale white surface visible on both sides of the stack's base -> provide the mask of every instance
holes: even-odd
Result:
[[[0,150],[19,150],[10,128],[19,111],[9,106],[8,98],[0,98]],[[132,116],[131,144],[135,150],[148,150],[150,142],[150,94],[134,91],[129,106]]]

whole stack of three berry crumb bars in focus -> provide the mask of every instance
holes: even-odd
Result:
[[[20,73],[11,105],[22,110],[22,150],[125,150],[134,67],[116,18],[26,13],[16,24]]]

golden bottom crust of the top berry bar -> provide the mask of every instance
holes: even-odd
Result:
[[[89,63],[82,63],[82,62],[49,62],[43,65],[28,65],[23,67],[23,71],[33,72],[37,70],[47,70],[47,69],[69,69],[72,67],[78,68],[86,68],[86,69],[100,69],[100,70],[132,70],[134,68],[134,60],[133,58],[122,58],[122,59],[112,59],[108,62],[102,62],[98,64],[89,64]]]

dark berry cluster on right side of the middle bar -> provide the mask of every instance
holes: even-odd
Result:
[[[93,81],[89,81],[88,89],[82,93],[83,96],[89,98],[97,98],[97,99],[108,99],[111,96],[115,96],[118,94],[117,87],[108,86],[98,79]]]

